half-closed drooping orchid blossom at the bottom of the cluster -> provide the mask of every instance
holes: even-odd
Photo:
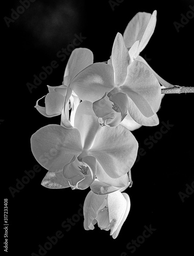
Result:
[[[101,229],[110,230],[110,236],[117,238],[130,211],[130,198],[126,193],[115,191],[98,196],[89,191],[84,201],[84,228],[93,230],[98,223]]]

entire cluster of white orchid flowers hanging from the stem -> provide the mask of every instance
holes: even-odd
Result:
[[[153,14],[137,13],[124,35],[117,33],[107,62],[93,63],[89,49],[69,57],[62,85],[48,86],[45,117],[61,115],[61,123],[41,127],[31,137],[32,153],[48,173],[48,188],[86,189],[84,228],[98,223],[115,239],[125,222],[132,185],[131,168],[138,143],[131,131],[159,123],[161,88],[171,88],[139,56],[156,26]]]

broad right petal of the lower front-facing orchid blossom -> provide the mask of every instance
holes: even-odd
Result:
[[[119,178],[129,172],[137,156],[138,143],[124,126],[102,127],[96,134],[91,156],[102,165],[111,178]]]

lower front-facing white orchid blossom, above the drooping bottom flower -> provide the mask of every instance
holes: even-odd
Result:
[[[102,127],[89,101],[78,105],[74,123],[46,125],[32,135],[31,148],[39,164],[49,172],[63,172],[63,187],[85,189],[95,178],[115,190],[128,186],[138,148],[132,133],[122,125]]]

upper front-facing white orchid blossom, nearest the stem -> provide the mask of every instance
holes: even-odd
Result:
[[[123,125],[133,131],[159,123],[161,88],[152,71],[141,61],[131,61],[124,38],[117,33],[111,65],[93,63],[81,71],[70,88],[82,100],[93,102],[101,125]],[[125,118],[125,119],[124,119]]]

